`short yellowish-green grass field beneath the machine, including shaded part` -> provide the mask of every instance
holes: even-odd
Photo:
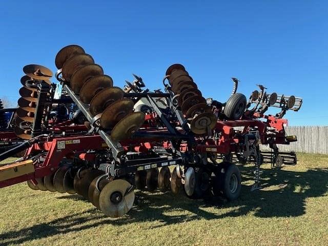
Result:
[[[237,201],[138,192],[138,206],[118,219],[77,195],[3,188],[0,245],[328,245],[328,156],[298,159],[281,170],[263,165],[256,192],[252,166],[241,168]]]

